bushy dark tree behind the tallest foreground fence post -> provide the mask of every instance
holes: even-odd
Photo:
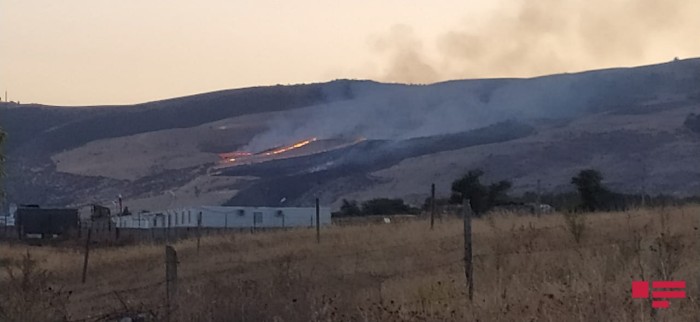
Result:
[[[511,187],[509,181],[503,180],[489,186],[481,184],[480,177],[484,174],[481,170],[471,170],[463,177],[452,183],[451,203],[462,203],[463,199],[469,199],[472,211],[480,215],[508,199],[508,190]]]

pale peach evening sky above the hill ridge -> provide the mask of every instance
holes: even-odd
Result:
[[[108,105],[636,66],[700,56],[698,13],[696,0],[2,0],[0,91]]]

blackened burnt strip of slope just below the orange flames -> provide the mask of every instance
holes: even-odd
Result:
[[[279,204],[283,198],[286,205],[308,205],[313,202],[308,191],[318,191],[336,180],[357,187],[372,185],[376,179],[370,173],[407,158],[505,142],[533,132],[529,125],[509,121],[455,134],[403,141],[368,140],[313,155],[241,165],[223,170],[222,175],[260,179],[241,190],[226,205],[269,206]]]

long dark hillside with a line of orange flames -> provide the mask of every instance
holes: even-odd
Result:
[[[131,106],[2,103],[0,125],[11,202],[121,194],[136,209],[159,209],[420,202],[430,183],[446,195],[477,167],[512,180],[515,192],[537,180],[545,191],[569,189],[576,171],[595,167],[617,190],[700,194],[691,113],[700,113],[700,59],[431,85],[339,80]]]

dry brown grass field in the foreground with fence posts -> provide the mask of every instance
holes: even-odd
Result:
[[[697,321],[700,206],[372,224],[185,240],[172,321]],[[29,259],[27,257],[29,254]],[[163,245],[0,245],[0,320],[166,320]],[[652,315],[633,280],[685,280]]]

